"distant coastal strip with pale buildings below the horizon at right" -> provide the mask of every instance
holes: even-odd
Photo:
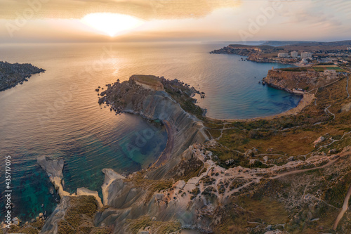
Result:
[[[351,41],[304,43],[296,41],[296,44],[285,46],[270,46],[269,41],[267,42],[260,46],[232,44],[211,53],[237,54],[247,56],[243,60],[284,63],[297,67],[327,65],[327,67],[315,67],[314,70],[351,72]]]

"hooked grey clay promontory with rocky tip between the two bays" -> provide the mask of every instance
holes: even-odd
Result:
[[[178,96],[182,93],[181,96],[187,97],[187,101],[192,100],[190,96],[194,92],[193,89],[178,81],[164,80],[163,84],[170,93],[176,93]],[[151,178],[164,178],[167,176],[167,171],[179,162],[179,156],[189,145],[208,140],[202,122],[185,112],[166,91],[144,89],[130,79],[128,82],[109,85],[101,96],[99,102],[105,102],[112,110],[130,112],[147,119],[159,119],[166,125],[168,144],[154,164],[157,170],[148,175]]]

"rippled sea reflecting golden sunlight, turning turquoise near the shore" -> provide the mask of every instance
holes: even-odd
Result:
[[[166,131],[161,126],[133,115],[116,116],[99,106],[98,86],[127,80],[132,74],[180,79],[206,93],[199,105],[216,118],[273,115],[298,104],[299,97],[258,84],[272,65],[287,65],[208,53],[223,46],[1,45],[0,60],[46,69],[29,82],[0,92],[0,152],[3,160],[5,155],[13,160],[13,216],[29,220],[55,208],[58,196],[50,193],[48,177],[37,164],[39,156],[65,160],[65,190],[73,193],[84,186],[100,193],[101,169],[131,173],[154,162],[164,149]],[[4,169],[0,175],[4,178]],[[4,180],[0,186],[2,191]]]

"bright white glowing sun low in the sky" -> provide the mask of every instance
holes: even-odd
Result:
[[[131,15],[114,13],[91,13],[81,18],[81,21],[110,37],[134,30],[145,23],[144,20]]]

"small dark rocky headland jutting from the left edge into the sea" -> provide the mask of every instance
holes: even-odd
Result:
[[[17,84],[27,82],[32,74],[45,72],[44,69],[25,63],[7,63],[0,61],[0,91],[11,89]]]

